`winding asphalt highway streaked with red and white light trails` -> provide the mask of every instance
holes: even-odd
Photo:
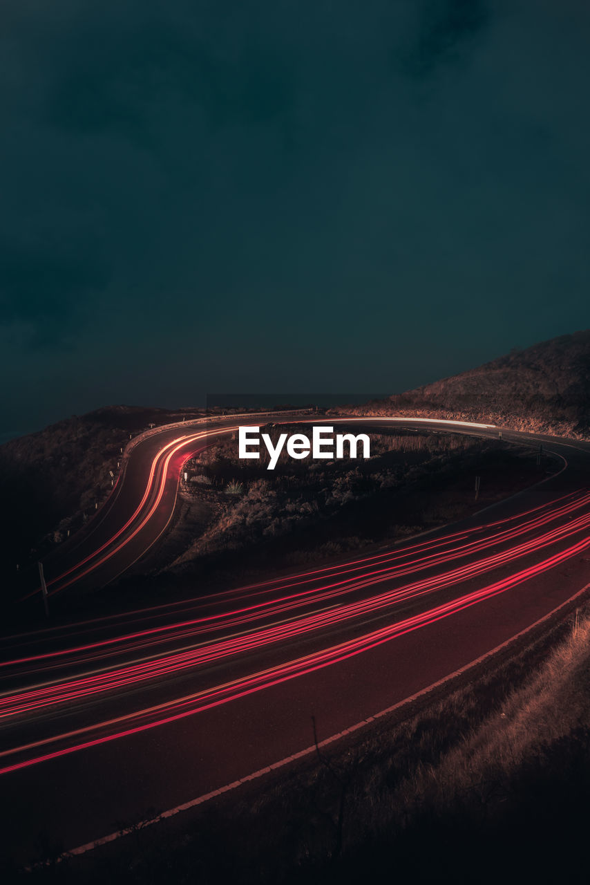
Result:
[[[498,437],[462,422],[282,420]],[[102,511],[46,562],[50,596],[103,586],[142,558],[172,519],[186,460],[257,423],[164,427],[136,443]],[[502,438],[542,443],[558,473],[370,554],[4,637],[0,787],[14,857],[29,862],[41,832],[75,849],[117,821],[175,809],[307,752],[312,716],[320,741],[356,728],[581,594],[590,444],[506,429]]]

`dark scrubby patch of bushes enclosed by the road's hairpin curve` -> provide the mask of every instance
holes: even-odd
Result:
[[[266,428],[275,437],[300,429]],[[189,462],[185,486],[195,502],[210,505],[211,521],[180,555],[177,549],[164,574],[188,578],[195,567],[212,574],[220,565],[243,573],[256,567],[261,550],[266,569],[273,560],[298,566],[400,540],[460,519],[555,469],[548,458],[538,466],[536,450],[500,440],[392,428],[371,434],[371,441],[366,460],[297,461],[281,454],[274,471],[266,469],[265,452],[261,461],[241,461],[235,440],[212,446]]]

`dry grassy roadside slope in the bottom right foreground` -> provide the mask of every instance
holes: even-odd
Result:
[[[318,750],[264,795],[254,782],[27,881],[578,881],[590,613],[572,620],[356,745]]]

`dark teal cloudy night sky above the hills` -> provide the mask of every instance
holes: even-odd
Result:
[[[4,0],[0,436],[586,328],[586,0]]]

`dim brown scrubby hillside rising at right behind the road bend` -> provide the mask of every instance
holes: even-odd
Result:
[[[534,344],[475,369],[355,408],[485,420],[553,435],[590,435],[590,329]]]

